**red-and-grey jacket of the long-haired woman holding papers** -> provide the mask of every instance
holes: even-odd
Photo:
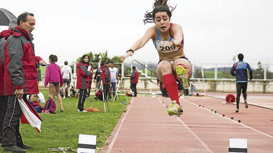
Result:
[[[77,64],[77,86],[76,89],[90,89],[89,76],[90,71],[87,70],[88,65],[83,63]]]

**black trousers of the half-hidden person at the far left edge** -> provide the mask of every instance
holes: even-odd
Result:
[[[3,122],[7,112],[8,96],[0,96],[0,143],[3,135]]]

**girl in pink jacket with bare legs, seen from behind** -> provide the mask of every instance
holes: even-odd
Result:
[[[63,86],[63,76],[60,70],[60,66],[58,66],[55,62],[58,61],[56,55],[49,56],[50,64],[47,66],[46,77],[45,77],[45,87],[49,83],[49,96],[53,98],[54,91],[56,90],[56,96],[60,103],[60,111],[64,111],[62,97],[60,96],[60,87]]]

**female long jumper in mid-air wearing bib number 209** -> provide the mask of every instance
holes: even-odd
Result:
[[[155,23],[148,28],[144,36],[132,45],[131,49],[121,59],[132,56],[133,53],[143,47],[148,40],[152,39],[159,54],[159,63],[155,70],[160,82],[164,83],[172,104],[166,109],[171,115],[183,113],[179,103],[177,81],[180,81],[184,89],[189,88],[189,78],[192,74],[191,64],[185,57],[183,31],[180,25],[170,23],[172,11],[175,7],[168,6],[167,0],[156,0],[154,9],[145,14],[144,23]],[[171,11],[169,10],[171,8]]]

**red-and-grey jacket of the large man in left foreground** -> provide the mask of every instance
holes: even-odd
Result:
[[[16,89],[23,89],[24,94],[39,93],[33,38],[19,26],[5,35],[4,48],[4,83],[5,94],[14,95]]]

